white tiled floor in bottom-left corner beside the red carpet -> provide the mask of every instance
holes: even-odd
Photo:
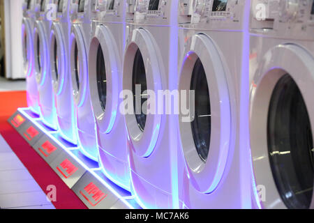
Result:
[[[1,135],[0,208],[54,209],[43,190]]]

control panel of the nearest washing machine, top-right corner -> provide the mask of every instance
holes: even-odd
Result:
[[[314,0],[253,0],[251,31],[314,39]]]

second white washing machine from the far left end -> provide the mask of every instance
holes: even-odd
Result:
[[[50,28],[52,22],[50,18],[46,16],[48,10],[50,10],[50,3],[50,0],[36,0],[36,22],[33,29],[33,52],[40,117],[45,125],[53,130],[57,130],[57,110],[54,103],[50,70]]]

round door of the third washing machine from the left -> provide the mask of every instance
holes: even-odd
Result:
[[[50,32],[50,65],[54,93],[59,95],[66,81],[66,42],[59,23],[53,23]]]

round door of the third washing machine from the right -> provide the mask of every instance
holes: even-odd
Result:
[[[124,93],[133,98],[132,105],[124,105],[124,108],[130,109],[125,114],[126,126],[133,151],[140,157],[149,157],[160,133],[161,114],[148,112],[145,107],[147,98],[138,100],[135,95],[144,96],[149,92],[157,95],[162,90],[161,81],[165,72],[160,51],[151,33],[145,29],[135,29],[131,38],[124,54]]]

